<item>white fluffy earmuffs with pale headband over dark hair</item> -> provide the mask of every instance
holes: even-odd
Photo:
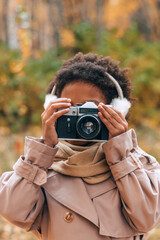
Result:
[[[105,74],[114,83],[114,85],[117,89],[118,95],[119,95],[118,98],[114,98],[111,101],[110,105],[112,105],[116,110],[121,112],[122,115],[125,117],[131,107],[131,103],[127,100],[127,98],[124,98],[122,89],[121,89],[119,83],[117,82],[117,80],[115,78],[113,78],[109,73],[106,72]],[[49,106],[49,104],[54,99],[57,98],[57,96],[55,95],[55,90],[56,90],[56,87],[54,86],[51,93],[46,95],[45,102],[44,102],[45,109]]]

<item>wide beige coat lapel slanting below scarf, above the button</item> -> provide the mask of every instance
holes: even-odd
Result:
[[[55,173],[48,177],[43,188],[67,208],[98,226],[98,216],[81,178]]]

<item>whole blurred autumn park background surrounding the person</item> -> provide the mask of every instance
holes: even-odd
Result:
[[[129,127],[160,161],[160,0],[0,1],[0,174],[23,154],[24,136],[41,136],[45,89],[77,52],[129,67],[137,99]],[[0,240],[33,240],[0,218]],[[148,240],[160,239],[160,228]]]

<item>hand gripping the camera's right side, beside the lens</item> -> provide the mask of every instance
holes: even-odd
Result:
[[[103,103],[98,105],[98,116],[109,131],[109,139],[128,130],[128,123],[124,116],[113,107]]]

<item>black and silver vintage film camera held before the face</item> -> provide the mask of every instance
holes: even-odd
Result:
[[[70,111],[57,120],[58,139],[104,142],[109,132],[98,117],[98,108],[94,102],[70,107]]]

